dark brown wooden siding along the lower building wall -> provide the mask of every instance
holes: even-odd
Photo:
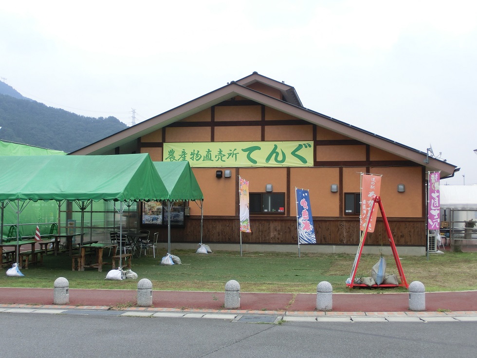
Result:
[[[396,245],[424,246],[424,219],[397,218],[389,220]],[[359,222],[357,218],[313,218],[316,243],[324,245],[358,245]],[[186,219],[183,227],[171,227],[171,242],[200,243],[200,218]],[[242,243],[296,244],[295,218],[251,218],[252,232],[242,233]],[[146,228],[146,227],[144,227]],[[147,226],[159,232],[159,241],[167,242],[167,227]],[[238,217],[204,218],[203,242],[238,243],[240,232]],[[375,232],[368,233],[366,245],[389,245],[384,223],[378,218]]]

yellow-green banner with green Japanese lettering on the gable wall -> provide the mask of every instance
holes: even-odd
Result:
[[[313,142],[164,143],[165,162],[191,167],[312,167]]]

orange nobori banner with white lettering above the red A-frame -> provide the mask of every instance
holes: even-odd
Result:
[[[361,174],[361,212],[359,216],[360,230],[364,231],[366,228],[369,210],[373,204],[373,198],[379,196],[381,190],[381,175]],[[376,217],[378,210],[373,210],[369,218],[369,225],[367,232],[374,232],[374,225],[376,224]]]

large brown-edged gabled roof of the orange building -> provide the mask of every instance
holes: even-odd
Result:
[[[254,90],[253,88],[257,88],[254,86],[257,83],[279,91],[282,94],[282,99]],[[452,176],[455,171],[459,170],[456,166],[447,163],[446,161],[428,157],[426,152],[418,151],[378,134],[368,132],[330,116],[304,108],[293,87],[286,85],[283,82],[278,82],[263,75],[259,75],[256,72],[252,75],[241,78],[238,81],[232,81],[215,91],[204,94],[179,107],[156,115],[146,121],[110,135],[109,137],[92,143],[89,146],[70,154],[114,154],[115,148],[117,147],[129,152],[135,151],[137,149],[137,141],[140,137],[236,96],[290,114],[291,116],[332,132],[340,133],[364,144],[393,153],[416,164],[425,165],[426,171],[440,171],[441,178]],[[426,159],[428,159],[428,163],[426,163]]]

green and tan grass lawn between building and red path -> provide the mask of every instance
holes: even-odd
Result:
[[[399,248],[398,248],[399,250]],[[108,261],[108,250],[104,257]],[[333,292],[405,292],[396,288],[355,288],[350,290],[345,281],[354,261],[354,255],[217,251],[212,254],[196,254],[195,250],[176,250],[181,265],[160,265],[164,253],[133,258],[132,270],[139,279],[147,278],[154,290],[171,291],[217,291],[224,290],[225,283],[237,280],[242,292],[290,292],[316,293],[316,285],[328,281]],[[385,256],[386,274],[396,273],[392,256]],[[362,255],[358,276],[371,276],[371,267],[379,260],[378,255]],[[477,287],[477,252],[401,257],[407,283],[421,281],[427,292],[473,290]],[[71,258],[63,253],[44,256],[43,265],[22,269],[24,277],[7,277],[4,267],[0,274],[0,287],[45,287],[53,288],[55,279],[65,277],[70,288],[137,289],[138,280],[104,280],[110,264],[103,272],[95,269],[72,271]]]

